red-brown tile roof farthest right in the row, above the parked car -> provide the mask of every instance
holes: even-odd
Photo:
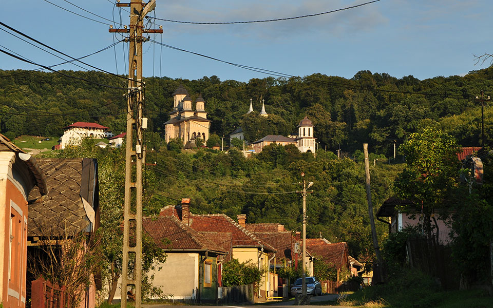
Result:
[[[307,239],[307,248],[315,258],[334,264],[337,268],[349,266],[348,244],[328,244],[325,239]]]

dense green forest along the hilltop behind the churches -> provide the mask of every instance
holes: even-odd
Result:
[[[59,137],[62,127],[76,122],[98,122],[113,132],[124,130],[126,80],[100,72],[63,71],[79,79],[45,72],[0,71],[0,130],[9,138],[21,134]],[[171,94],[180,85],[195,98],[202,94],[211,132],[227,135],[241,126],[255,141],[266,134],[287,135],[308,115],[315,125],[319,148],[353,153],[368,142],[376,153],[390,156],[410,132],[434,125],[456,137],[462,145],[478,145],[481,132],[480,91],[493,94],[493,68],[469,74],[420,81],[386,73],[360,71],[350,80],[313,74],[304,80],[252,79],[248,83],[199,80],[146,79],[149,132],[163,133],[169,119]],[[245,115],[250,99],[256,112]],[[262,100],[269,118],[256,117]],[[486,140],[493,137],[493,109],[485,106]],[[156,134],[156,136],[158,135]]]

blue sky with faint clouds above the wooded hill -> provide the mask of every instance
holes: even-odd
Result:
[[[49,0],[108,23],[64,0]],[[120,21],[111,0],[70,0],[88,11]],[[122,0],[122,2],[124,2]],[[195,22],[250,21],[331,11],[368,0],[157,0],[159,18]],[[164,34],[154,40],[238,64],[291,75],[323,73],[351,78],[359,70],[418,79],[464,75],[485,68],[473,54],[493,53],[491,0],[381,0],[366,6],[291,21],[239,25],[188,25],[156,21]],[[128,12],[121,11],[123,24]],[[108,25],[64,11],[43,0],[3,1],[0,21],[70,54],[83,56],[113,43]],[[0,27],[0,29],[5,29]],[[46,66],[62,60],[0,31],[0,47]],[[123,47],[124,46],[124,47]],[[127,64],[120,43],[85,59],[120,74]],[[144,43],[144,75],[248,81],[267,75],[173,49]],[[116,52],[116,60],[115,60]],[[128,53],[128,51],[126,51]],[[115,63],[116,62],[116,63]],[[34,69],[0,54],[1,69]],[[80,70],[71,64],[63,69]]]

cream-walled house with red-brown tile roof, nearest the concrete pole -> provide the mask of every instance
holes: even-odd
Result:
[[[221,281],[218,266],[228,253],[210,240],[214,235],[201,234],[174,216],[146,218],[142,227],[166,252],[166,262],[150,273],[154,286],[173,299],[214,303]],[[227,236],[220,239],[228,241]],[[179,277],[179,283],[170,277]]]

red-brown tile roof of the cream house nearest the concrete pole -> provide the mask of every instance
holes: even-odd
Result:
[[[159,247],[169,252],[185,250],[226,254],[219,245],[175,217],[145,218],[142,227]],[[167,244],[165,240],[170,243]]]

